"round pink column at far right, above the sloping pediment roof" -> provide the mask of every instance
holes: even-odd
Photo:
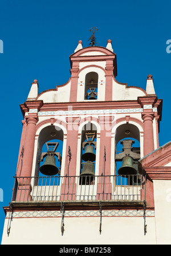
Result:
[[[154,151],[153,114],[143,114],[144,121],[144,156]]]

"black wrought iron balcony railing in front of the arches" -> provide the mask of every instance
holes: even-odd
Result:
[[[143,202],[142,175],[15,177],[12,202]]]

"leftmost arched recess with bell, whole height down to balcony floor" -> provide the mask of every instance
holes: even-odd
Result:
[[[32,201],[59,200],[58,188],[61,181],[62,154],[63,130],[54,125],[44,127],[40,131],[38,138],[35,177],[31,191]],[[58,161],[59,159],[60,161]],[[42,166],[44,166],[43,170],[41,169]],[[53,173],[54,166],[55,173]]]

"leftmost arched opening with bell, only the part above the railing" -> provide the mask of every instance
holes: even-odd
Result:
[[[64,133],[62,129],[58,128],[54,125],[46,126],[39,133],[35,166],[36,177],[60,174]]]

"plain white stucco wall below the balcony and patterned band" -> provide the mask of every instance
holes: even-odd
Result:
[[[64,234],[60,231],[61,217],[13,218],[9,237],[5,221],[2,244],[56,245],[117,245],[156,244],[154,217],[64,217]]]

